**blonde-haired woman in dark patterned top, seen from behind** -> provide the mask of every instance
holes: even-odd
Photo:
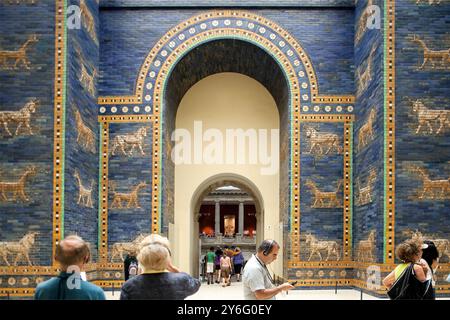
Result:
[[[172,266],[169,240],[150,237],[141,242],[137,256],[142,273],[125,282],[120,299],[183,300],[196,293],[200,281]]]

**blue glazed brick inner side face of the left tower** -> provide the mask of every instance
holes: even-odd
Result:
[[[95,1],[86,1],[94,17],[95,37],[98,39],[98,5]],[[69,5],[79,5],[79,0]],[[98,135],[97,92],[89,92],[82,79],[82,65],[92,75],[94,68],[98,73],[99,48],[86,29],[84,17],[80,29],[67,30],[67,95],[66,95],[66,148],[65,148],[65,214],[64,234],[78,234],[91,244],[93,261],[97,259],[98,239]],[[95,88],[97,87],[95,82]],[[85,138],[78,138],[75,111],[81,114],[84,124],[94,134],[95,153],[84,148]],[[92,208],[78,204],[79,186],[74,177],[78,171],[85,188],[92,187]],[[86,202],[84,202],[86,203]]]

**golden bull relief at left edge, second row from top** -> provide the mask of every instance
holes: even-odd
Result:
[[[9,129],[11,124],[15,124],[15,136],[19,135],[19,130],[20,128],[22,128],[22,126],[25,126],[28,129],[28,134],[33,135],[30,122],[32,114],[36,112],[38,105],[39,100],[33,98],[28,101],[19,111],[0,111],[0,122],[3,125],[5,132],[12,137],[13,134]]]

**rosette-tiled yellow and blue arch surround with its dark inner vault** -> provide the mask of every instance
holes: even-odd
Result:
[[[102,105],[114,105],[119,113],[123,106],[133,108],[142,105],[144,115],[126,116],[120,121],[129,119],[151,123],[151,231],[176,239],[174,212],[177,195],[175,165],[171,160],[174,147],[171,134],[176,127],[177,109],[194,84],[222,72],[240,73],[257,80],[269,91],[278,108],[280,163],[279,188],[276,191],[279,194],[279,208],[275,213],[277,223],[271,225],[271,231],[263,228],[264,233],[259,237],[276,237],[281,243],[283,255],[275,272],[287,277],[288,260],[300,260],[300,123],[322,119],[312,115],[302,116],[301,111],[312,110],[313,104],[317,104],[315,108],[323,108],[325,103],[343,104],[344,112],[338,117],[331,116],[331,122],[351,123],[352,116],[346,115],[346,112],[352,111],[354,103],[353,96],[319,94],[313,65],[293,36],[273,21],[251,12],[211,11],[193,16],[172,28],[152,48],[139,71],[134,95],[99,98],[100,121],[103,121],[105,129],[118,117],[117,113],[111,113],[112,108],[102,108]],[[348,190],[349,176],[344,183]],[[104,181],[103,190],[107,189],[107,181]],[[195,205],[192,204],[189,208],[191,213],[186,214],[192,217]],[[186,208],[186,211],[189,210]],[[107,220],[106,206],[102,214],[103,219]],[[180,240],[175,240],[174,245],[181,250],[179,244],[183,243],[189,247],[189,252],[196,253],[192,238],[188,241],[191,246]],[[106,259],[107,250],[108,237],[104,235],[101,258]],[[348,255],[350,250],[351,241],[346,241],[344,252]],[[189,263],[189,271],[195,269],[195,264]]]

